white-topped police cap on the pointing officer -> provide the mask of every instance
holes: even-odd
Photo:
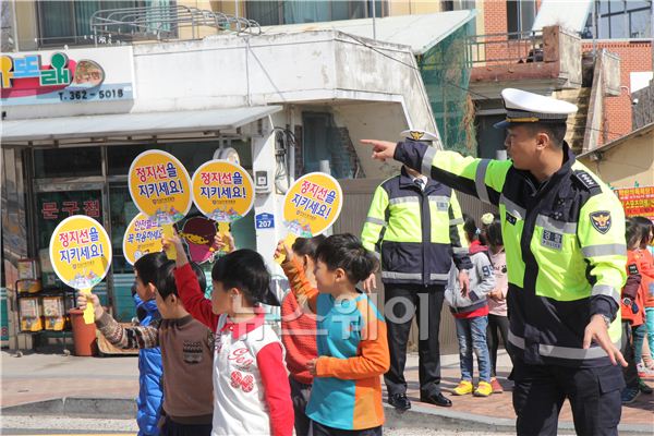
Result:
[[[577,106],[526,90],[506,88],[501,98],[507,110],[507,119],[496,123],[495,129],[508,128],[511,123],[565,123]]]

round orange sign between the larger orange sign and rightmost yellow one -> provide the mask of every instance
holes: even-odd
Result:
[[[193,174],[193,202],[207,218],[232,222],[254,205],[254,183],[243,167],[227,160],[209,160]]]

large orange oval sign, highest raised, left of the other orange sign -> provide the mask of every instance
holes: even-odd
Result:
[[[169,153],[147,150],[136,156],[129,180],[136,207],[160,226],[179,221],[191,209],[191,178]]]

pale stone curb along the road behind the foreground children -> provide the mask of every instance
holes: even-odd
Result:
[[[438,428],[444,431],[465,431],[516,434],[516,421],[473,413],[457,412],[446,408],[433,408],[413,402],[410,410],[398,412],[384,403],[386,423],[392,428]],[[69,417],[106,417],[132,420],[136,416],[136,402],[133,398],[80,398],[64,397],[28,402],[0,409],[3,415],[57,415]],[[652,435],[647,424],[620,424],[620,436]],[[560,422],[558,434],[574,434],[571,422]]]

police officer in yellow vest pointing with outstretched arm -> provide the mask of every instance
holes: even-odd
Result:
[[[504,89],[511,160],[441,152],[417,141],[372,144],[499,207],[509,278],[509,342],[519,435],[556,435],[568,398],[580,435],[617,435],[621,371],[619,295],[626,280],[618,198],[564,141],[574,105]]]

